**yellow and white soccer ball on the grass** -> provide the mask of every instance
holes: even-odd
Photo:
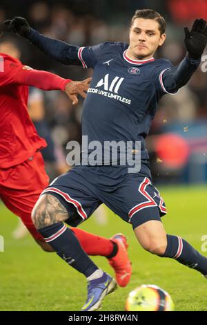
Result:
[[[166,291],[152,284],[132,290],[126,299],[126,311],[172,311],[174,303]]]

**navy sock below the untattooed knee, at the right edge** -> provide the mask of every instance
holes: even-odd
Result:
[[[201,255],[187,241],[179,236],[167,234],[168,245],[163,257],[177,259],[179,263],[194,268],[195,270],[207,275],[207,258]]]

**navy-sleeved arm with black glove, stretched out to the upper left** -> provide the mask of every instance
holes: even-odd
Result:
[[[81,66],[81,61],[78,59],[77,55],[79,46],[73,46],[64,41],[39,34],[37,30],[30,27],[28,21],[23,17],[14,17],[14,19],[6,20],[3,22],[3,25],[6,26],[8,31],[28,39],[28,41],[37,46],[39,50],[50,55],[53,59],[63,64]]]

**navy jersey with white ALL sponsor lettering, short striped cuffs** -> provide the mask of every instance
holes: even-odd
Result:
[[[94,69],[83,106],[82,131],[88,142],[141,141],[141,158],[148,158],[144,138],[157,102],[166,93],[162,74],[172,64],[166,59],[129,59],[127,48],[128,44],[109,42],[79,48],[83,67]]]

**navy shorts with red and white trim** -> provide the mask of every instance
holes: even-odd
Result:
[[[52,194],[68,210],[67,223],[76,227],[106,204],[135,229],[150,220],[160,221],[166,206],[151,183],[148,163],[139,173],[126,166],[76,166],[56,178],[42,194]]]

